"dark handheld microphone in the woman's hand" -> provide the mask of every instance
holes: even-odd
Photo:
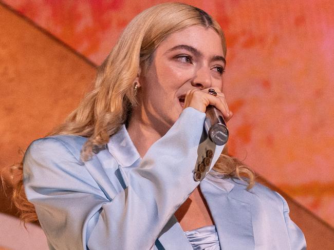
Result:
[[[209,105],[206,110],[204,129],[210,140],[216,145],[224,145],[229,139],[229,131],[221,112],[214,106]]]

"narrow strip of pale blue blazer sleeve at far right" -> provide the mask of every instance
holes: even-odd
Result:
[[[286,229],[289,235],[289,240],[290,240],[290,249],[292,250],[306,250],[306,240],[304,237],[303,232],[300,230],[298,225],[296,225],[289,216],[290,209],[288,206],[288,203],[286,200],[283,198],[282,195],[279,193],[275,192],[279,197],[281,198],[283,202],[283,215],[284,215],[284,220],[286,224]]]

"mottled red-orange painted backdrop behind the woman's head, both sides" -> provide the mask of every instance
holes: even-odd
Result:
[[[99,65],[126,24],[166,1],[5,0]],[[227,43],[230,151],[334,226],[334,1],[183,1]]]

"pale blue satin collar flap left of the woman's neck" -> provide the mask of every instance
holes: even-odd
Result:
[[[110,136],[107,148],[122,167],[132,166],[140,158],[124,124],[116,134]]]

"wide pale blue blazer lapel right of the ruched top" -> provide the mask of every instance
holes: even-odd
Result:
[[[200,183],[222,250],[254,249],[251,205],[244,185],[214,177],[211,174]],[[243,192],[242,192],[243,191]]]

